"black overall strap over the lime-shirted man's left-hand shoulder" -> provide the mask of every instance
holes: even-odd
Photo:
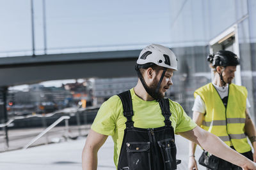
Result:
[[[125,92],[122,92],[117,95],[120,97],[123,109],[124,109],[124,117],[127,118],[127,121],[125,122],[126,128],[127,127],[133,127],[134,122],[132,121],[133,110],[132,110],[132,97],[130,90],[127,90]]]

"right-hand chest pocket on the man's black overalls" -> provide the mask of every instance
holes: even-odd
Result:
[[[162,141],[157,142],[161,154],[163,157],[163,164],[164,164],[164,169],[168,170],[174,170],[177,169],[177,164],[176,164],[176,145],[174,143],[173,139],[164,139]]]

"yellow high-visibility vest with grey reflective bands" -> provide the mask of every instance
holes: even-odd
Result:
[[[205,103],[202,129],[215,134],[228,146],[234,146],[239,153],[252,150],[244,134],[247,93],[245,87],[231,83],[228,87],[227,109],[212,83],[200,87],[194,93]]]

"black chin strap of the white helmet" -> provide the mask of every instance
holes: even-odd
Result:
[[[140,81],[141,81],[141,83],[142,83],[144,89],[147,91],[147,93],[148,93],[151,97],[153,97],[154,99],[156,99],[156,101],[159,101],[159,99],[161,99],[161,96],[159,96],[159,89],[160,89],[160,85],[161,85],[161,83],[162,83],[162,81],[163,81],[164,74],[165,74],[165,72],[166,72],[166,67],[164,67],[164,69],[163,69],[163,73],[162,73],[162,75],[161,75],[161,78],[160,78],[159,82],[157,83],[157,87],[156,87],[156,90],[154,90],[154,92],[152,92],[152,90],[150,90],[150,89],[148,88],[148,86],[147,86],[147,84],[145,83],[145,80],[144,80],[144,78],[143,78],[143,76],[142,76],[142,74],[141,74],[141,72],[140,72],[140,69],[138,69],[138,67],[136,67],[136,71],[137,71],[138,76],[139,76],[139,78],[140,78]]]

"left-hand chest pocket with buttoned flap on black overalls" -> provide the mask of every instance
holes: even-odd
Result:
[[[130,170],[151,169],[149,142],[126,143],[126,150]]]

